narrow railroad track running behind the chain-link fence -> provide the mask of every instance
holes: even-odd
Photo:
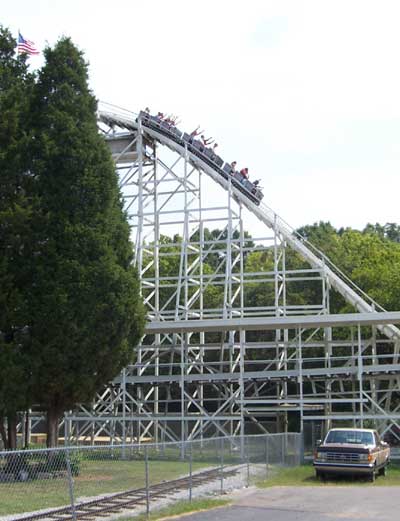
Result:
[[[37,519],[48,521],[69,521],[72,519],[90,520],[96,517],[107,517],[108,514],[118,513],[126,508],[145,505],[147,500],[162,498],[179,490],[188,489],[190,482],[192,487],[198,487],[204,483],[215,481],[217,479],[225,479],[234,476],[239,471],[238,467],[229,470],[212,469],[204,472],[192,474],[192,477],[185,476],[183,478],[165,481],[150,485],[148,492],[146,487],[127,490],[125,492],[118,492],[110,494],[107,497],[97,498],[91,501],[85,501],[75,505],[75,516],[73,515],[71,506],[54,508],[46,512],[40,512],[28,516],[18,516],[15,518],[18,521],[33,521]]]

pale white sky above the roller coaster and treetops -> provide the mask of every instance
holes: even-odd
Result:
[[[1,6],[39,48],[71,36],[97,98],[200,123],[294,227],[400,222],[399,22],[395,0]]]

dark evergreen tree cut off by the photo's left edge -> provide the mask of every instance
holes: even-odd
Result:
[[[0,434],[8,448],[16,447],[17,411],[30,405],[26,293],[33,201],[26,122],[34,78],[15,48],[0,27]]]

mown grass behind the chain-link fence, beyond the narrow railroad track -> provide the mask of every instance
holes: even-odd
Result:
[[[209,466],[193,462],[193,472]],[[149,461],[151,484],[189,473],[182,461]],[[76,498],[120,492],[145,486],[143,461],[84,461],[79,476],[74,478]],[[66,477],[42,479],[25,483],[0,483],[0,515],[17,514],[68,505],[69,488]]]

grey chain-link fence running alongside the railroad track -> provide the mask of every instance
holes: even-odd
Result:
[[[174,498],[249,485],[301,460],[295,433],[3,451],[0,521],[149,513]]]

